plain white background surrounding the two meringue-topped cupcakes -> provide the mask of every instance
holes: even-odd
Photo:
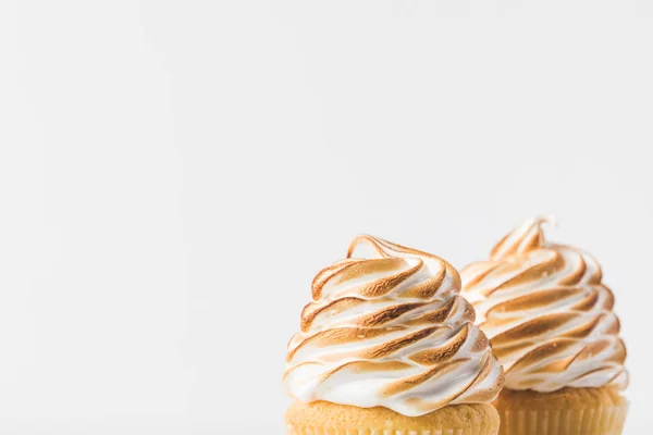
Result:
[[[541,213],[651,432],[651,1],[0,4],[2,434],[282,434],[354,235],[463,266]]]

